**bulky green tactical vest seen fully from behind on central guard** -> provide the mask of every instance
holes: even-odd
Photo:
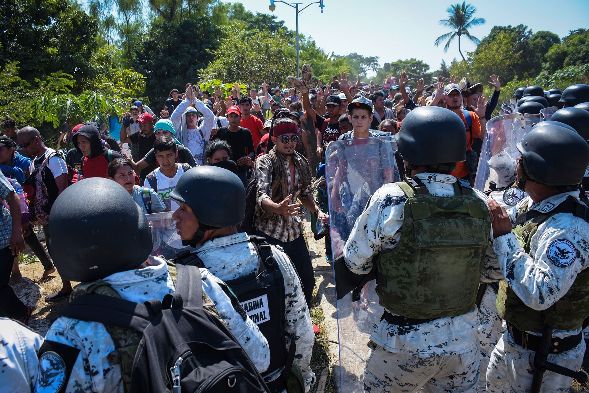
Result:
[[[461,180],[452,197],[429,194],[416,177],[396,184],[408,199],[398,246],[376,262],[380,305],[407,318],[471,311],[491,232],[487,205]]]

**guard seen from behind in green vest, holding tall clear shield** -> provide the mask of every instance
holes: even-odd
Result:
[[[365,391],[474,392],[475,296],[492,261],[485,259],[491,220],[485,195],[448,174],[465,159],[464,123],[444,108],[417,108],[397,143],[408,183],[373,194],[343,253],[352,272],[378,267],[385,307],[368,344]]]

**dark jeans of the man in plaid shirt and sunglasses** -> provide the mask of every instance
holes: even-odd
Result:
[[[299,274],[300,283],[303,286],[303,293],[307,301],[307,307],[310,308],[311,298],[313,296],[313,288],[315,288],[315,275],[313,275],[313,265],[311,263],[311,256],[305,243],[303,234],[292,242],[281,242],[280,240],[266,235],[261,230],[256,230],[257,236],[266,237],[266,242],[273,246],[280,246],[293,263],[293,267]]]

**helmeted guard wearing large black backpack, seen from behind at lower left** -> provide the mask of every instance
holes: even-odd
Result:
[[[98,293],[143,303],[174,293],[175,267],[149,256],[147,219],[114,181],[93,178],[68,187],[52,208],[51,225],[56,229],[51,238],[55,265],[62,276],[82,282],[72,298]],[[127,242],[121,242],[125,236]],[[201,279],[203,305],[220,316],[256,368],[264,371],[270,361],[266,338],[250,318],[242,318],[239,305],[239,311],[234,308],[221,280],[206,269],[201,269]],[[127,339],[125,329],[58,318],[39,351],[36,391],[128,391],[138,341],[121,345]]]

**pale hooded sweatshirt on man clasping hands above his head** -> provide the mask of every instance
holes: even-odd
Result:
[[[190,107],[190,104],[194,104],[196,109]],[[191,112],[196,113],[197,111],[203,114],[204,121],[197,128],[188,129],[186,125],[186,114]],[[195,98],[192,103],[188,99],[185,99],[174,110],[170,120],[174,124],[174,128],[176,128],[176,138],[178,141],[191,151],[196,163],[202,165],[204,144],[209,142],[211,130],[215,123],[213,111],[204,105],[203,101],[198,100],[198,98]]]

